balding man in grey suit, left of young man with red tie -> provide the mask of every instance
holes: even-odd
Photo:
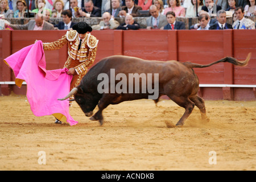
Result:
[[[159,14],[159,10],[155,5],[151,5],[149,11],[151,16],[146,20],[147,30],[151,30],[152,28],[163,30],[164,26],[168,23],[166,16]]]

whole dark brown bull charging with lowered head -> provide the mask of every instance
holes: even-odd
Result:
[[[116,92],[116,90],[114,92],[113,90],[110,92],[110,89],[113,88],[113,85],[111,88],[111,81],[113,81],[111,78],[113,77],[113,75],[111,75],[111,70],[114,70],[115,75],[123,73],[122,76],[127,76],[127,78],[129,78],[129,74],[131,73],[138,73],[138,75],[151,73],[152,77],[153,75],[158,75],[159,79],[157,83],[158,90],[155,90],[158,92],[158,96],[154,98],[155,102],[158,102],[160,96],[167,95],[177,105],[185,108],[185,113],[180,118],[179,122],[176,123],[176,126],[184,125],[185,119],[187,119],[192,113],[195,105],[199,107],[202,119],[208,121],[204,100],[197,96],[197,92],[199,90],[199,79],[195,75],[193,68],[210,67],[213,64],[222,62],[245,66],[249,60],[250,53],[245,61],[238,61],[233,57],[224,57],[221,60],[207,65],[189,62],[180,63],[178,61],[147,61],[138,59],[137,57],[128,56],[110,56],[102,59],[99,63],[94,65],[94,67],[92,67],[82,78],[80,85],[72,89],[68,96],[60,100],[66,100],[73,95],[75,97],[75,101],[79,104],[87,117],[92,116],[94,108],[98,105],[99,110],[90,119],[93,121],[100,121],[100,124],[102,125],[104,122],[102,110],[104,110],[108,105],[152,96],[152,92],[149,93],[148,90],[146,90],[146,92],[142,92],[143,86],[145,86],[142,79],[139,79],[139,93],[134,93],[135,81],[132,85],[133,92],[129,92],[128,81],[131,81],[129,79],[127,79],[127,90],[123,90],[124,92],[122,93]],[[109,89],[106,89],[104,93],[98,92],[98,85],[102,84],[103,80],[103,78],[98,78],[100,73],[105,73],[104,75],[107,75],[110,78],[108,81]],[[156,78],[155,80],[154,78],[152,79],[152,85],[147,86],[151,86],[152,88],[155,87],[154,81],[156,81]],[[122,79],[119,78],[118,80],[115,78],[114,88]],[[108,88],[108,86],[106,86],[106,88]]]

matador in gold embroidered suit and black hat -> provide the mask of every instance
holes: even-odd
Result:
[[[80,84],[82,77],[85,76],[90,65],[93,64],[98,40],[91,34],[92,27],[85,22],[79,22],[73,25],[73,30],[67,33],[59,40],[52,43],[43,43],[45,51],[60,49],[68,44],[68,59],[64,68],[68,68],[68,75],[73,75],[70,89]],[[55,123],[62,123],[56,119]]]

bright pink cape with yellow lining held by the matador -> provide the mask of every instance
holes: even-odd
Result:
[[[19,88],[23,81],[27,82],[27,99],[35,116],[53,115],[76,125],[69,115],[69,101],[57,100],[69,93],[72,75],[67,74],[67,68],[46,70],[42,41],[20,49],[4,61],[13,69]]]

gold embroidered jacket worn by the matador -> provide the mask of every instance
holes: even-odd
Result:
[[[88,67],[93,64],[98,40],[90,34],[86,34],[84,42],[81,44],[79,51],[79,36],[76,30],[67,31],[61,39],[52,43],[43,43],[44,50],[51,51],[60,49],[68,43],[68,59],[64,64],[65,68],[75,68],[78,75],[75,86],[79,85],[81,78],[85,75]]]

